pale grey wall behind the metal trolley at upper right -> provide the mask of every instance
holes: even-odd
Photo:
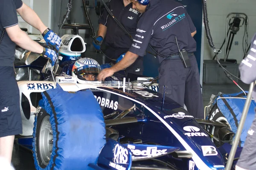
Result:
[[[248,46],[250,45],[251,38],[256,33],[256,0],[207,0],[208,20],[209,28],[212,35],[212,40],[216,49],[219,49],[225,39],[226,32],[226,18],[231,12],[240,12],[248,15]],[[242,21],[241,21],[242,22]],[[229,28],[229,27],[228,27]],[[240,63],[243,56],[243,42],[244,26],[240,27],[239,32],[235,35],[233,45],[230,50],[228,59],[237,59]],[[229,37],[227,37],[228,40]],[[235,45],[235,41],[239,42],[239,45]],[[245,48],[245,38],[244,38]],[[225,45],[221,49],[221,53],[218,54],[219,59],[224,59]],[[205,35],[204,39],[204,59],[212,59],[214,53],[210,48],[208,39]]]

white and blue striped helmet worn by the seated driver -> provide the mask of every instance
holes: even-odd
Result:
[[[81,84],[92,82],[100,83],[100,81],[97,80],[100,71],[100,65],[95,59],[81,58],[73,65],[72,76],[76,76],[77,82]]]

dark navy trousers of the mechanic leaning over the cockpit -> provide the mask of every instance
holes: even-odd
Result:
[[[159,71],[159,92],[163,93],[166,85],[166,96],[187,107],[188,112],[198,119],[204,119],[204,104],[201,93],[200,76],[195,55],[189,56],[191,67],[184,68],[181,59],[166,58],[161,62]]]

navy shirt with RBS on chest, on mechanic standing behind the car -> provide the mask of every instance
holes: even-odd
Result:
[[[119,22],[127,29],[132,37],[136,34],[137,17],[140,13],[132,8],[132,3],[124,6],[123,0],[109,0],[108,7],[113,15]],[[106,45],[113,48],[127,48],[129,49],[132,44],[132,40],[125,31],[116,23],[116,21],[108,14],[108,11],[104,9],[99,23],[107,27],[107,34],[105,37]]]

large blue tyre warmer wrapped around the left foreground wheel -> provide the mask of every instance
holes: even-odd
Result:
[[[39,105],[49,114],[53,131],[52,155],[44,170],[93,170],[88,164],[96,164],[106,140],[104,117],[92,91],[67,92],[57,84],[42,93]],[[35,168],[43,170],[35,152],[37,116],[34,125]]]

